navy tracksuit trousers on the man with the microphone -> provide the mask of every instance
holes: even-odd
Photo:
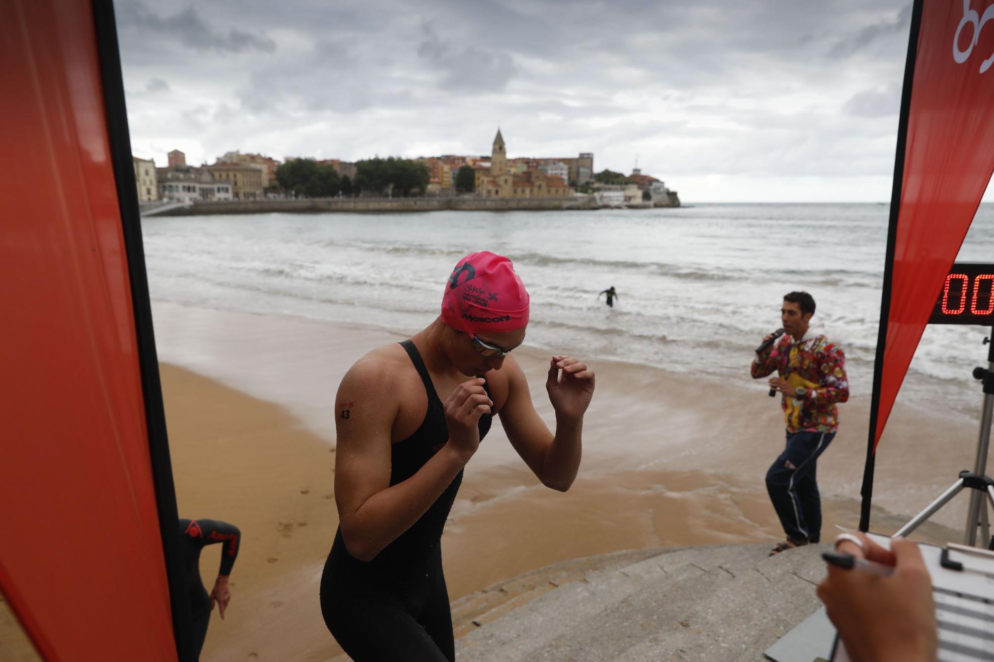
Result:
[[[787,432],[787,444],[766,472],[766,491],[787,537],[821,540],[821,497],[815,480],[818,456],[835,432]]]

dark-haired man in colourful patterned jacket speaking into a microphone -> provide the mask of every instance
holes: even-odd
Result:
[[[783,336],[763,339],[750,370],[753,379],[778,374],[769,380],[769,395],[782,394],[786,419],[786,446],[766,472],[766,491],[787,539],[770,556],[820,541],[815,469],[838,430],[836,404],[849,400],[846,357],[823,333],[810,328],[814,309],[814,298],[807,292],[784,295]]]

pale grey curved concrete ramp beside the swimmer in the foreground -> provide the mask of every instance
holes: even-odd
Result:
[[[825,574],[819,555],[827,549],[767,557],[770,547],[608,555],[502,582],[452,604],[456,636],[465,632],[456,656],[460,662],[762,660],[763,650],[820,605],[815,585]],[[523,589],[529,585],[531,592]]]

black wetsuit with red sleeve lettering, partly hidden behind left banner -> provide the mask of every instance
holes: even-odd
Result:
[[[242,532],[235,525],[218,520],[180,520],[180,534],[194,639],[197,643],[197,655],[200,656],[200,649],[204,647],[204,639],[207,637],[207,624],[211,620],[211,595],[200,579],[200,551],[207,545],[224,543],[218,575],[228,577],[232,574],[235,558],[239,556]]]

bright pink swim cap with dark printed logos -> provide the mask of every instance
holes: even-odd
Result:
[[[511,260],[481,250],[452,269],[441,297],[441,321],[466,333],[504,333],[528,324],[528,304]]]

